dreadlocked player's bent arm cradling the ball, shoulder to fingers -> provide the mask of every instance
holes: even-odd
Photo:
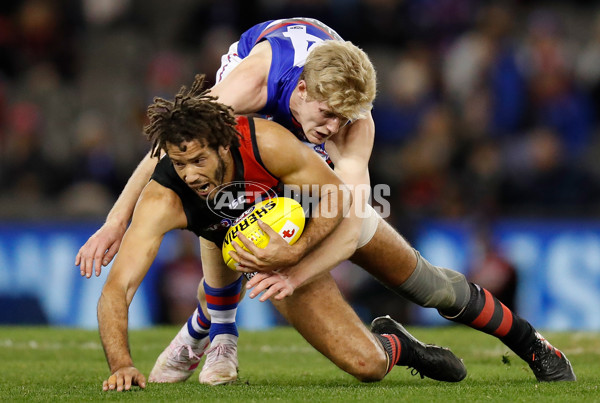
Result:
[[[300,261],[342,221],[352,203],[352,196],[342,180],[310,148],[298,141],[282,126],[255,119],[256,138],[265,167],[285,185],[308,190],[319,202],[313,217],[294,245],[279,236],[268,225],[259,222],[269,237],[269,244],[258,248],[243,235],[240,240],[249,249],[244,251],[234,243],[231,256],[240,263],[241,271],[272,271]],[[314,194],[318,192],[318,194]]]

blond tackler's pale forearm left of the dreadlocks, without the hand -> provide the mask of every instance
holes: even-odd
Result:
[[[156,158],[150,157],[150,153],[146,154],[127,181],[121,195],[108,213],[106,222],[120,225],[123,228],[127,226],[127,223],[129,223],[129,219],[133,214],[135,204],[137,203],[142,190],[150,180],[150,176],[152,176],[152,172],[154,172],[157,162]]]

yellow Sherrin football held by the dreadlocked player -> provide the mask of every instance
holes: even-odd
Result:
[[[261,220],[277,232],[290,245],[300,238],[304,230],[304,210],[296,200],[288,197],[274,197],[255,204],[239,216],[232,224],[223,241],[223,260],[227,266],[235,270],[236,261],[229,256],[233,249],[233,242],[237,242],[248,250],[239,240],[237,233],[241,232],[259,248],[264,248],[269,243],[267,235],[258,226]]]

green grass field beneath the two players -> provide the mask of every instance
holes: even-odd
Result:
[[[146,376],[177,330],[131,332],[134,361]],[[109,373],[97,332],[0,327],[0,401],[600,402],[600,334],[545,332],[567,354],[578,381],[541,384],[493,337],[466,327],[410,330],[422,341],[450,347],[464,359],[467,378],[457,384],[441,383],[398,367],[381,382],[361,384],[293,329],[278,328],[241,332],[236,384],[200,385],[197,372],[182,384],[103,392],[102,381]]]

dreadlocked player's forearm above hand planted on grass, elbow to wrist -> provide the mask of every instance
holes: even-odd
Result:
[[[125,293],[104,290],[98,302],[98,329],[110,372],[133,366],[127,342]]]

